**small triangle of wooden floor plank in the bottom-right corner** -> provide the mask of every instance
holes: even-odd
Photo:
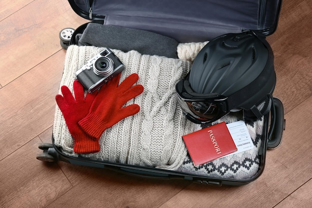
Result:
[[[312,170],[311,170],[312,172]],[[312,205],[312,180],[308,181],[275,208],[311,208]]]

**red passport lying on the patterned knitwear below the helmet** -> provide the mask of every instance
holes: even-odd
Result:
[[[225,122],[182,136],[195,166],[237,151]]]

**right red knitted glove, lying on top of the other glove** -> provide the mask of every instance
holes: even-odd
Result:
[[[129,100],[143,92],[141,84],[134,85],[138,74],[131,74],[119,86],[120,74],[102,86],[94,99],[89,114],[79,121],[80,127],[91,137],[100,138],[103,132],[122,119],[140,111],[140,106],[132,104],[123,107]]]

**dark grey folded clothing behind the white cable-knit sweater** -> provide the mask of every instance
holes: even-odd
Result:
[[[178,42],[150,31],[90,22],[78,45],[108,47],[124,52],[136,50],[141,54],[177,58]]]

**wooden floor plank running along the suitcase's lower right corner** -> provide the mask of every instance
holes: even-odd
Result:
[[[266,167],[255,182],[242,187],[212,188],[191,184],[163,208],[272,208],[311,179],[312,97],[286,115],[282,145],[267,152]],[[296,136],[295,136],[296,135]],[[255,200],[256,199],[256,200]]]

